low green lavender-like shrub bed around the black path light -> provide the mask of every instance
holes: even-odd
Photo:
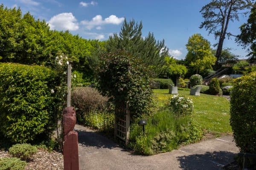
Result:
[[[190,116],[177,117],[169,110],[158,111],[147,122],[145,135],[137,123],[131,125],[130,132],[129,145],[143,155],[171,151],[180,144],[197,142],[202,138],[201,129],[192,123]]]

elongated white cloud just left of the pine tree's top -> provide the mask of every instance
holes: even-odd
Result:
[[[101,15],[96,15],[90,21],[87,21],[87,20],[81,21],[81,24],[84,25],[87,29],[90,30],[90,29],[94,28],[95,26],[102,26],[104,24],[119,25],[124,20],[125,20],[124,17],[120,17],[119,18],[119,17],[116,17],[116,15],[111,15],[108,18],[105,18],[104,20],[102,20],[102,16]]]

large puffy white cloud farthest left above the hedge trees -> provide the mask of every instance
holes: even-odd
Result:
[[[53,16],[47,23],[52,30],[70,30],[75,31],[79,29],[76,18],[72,13],[61,13]]]

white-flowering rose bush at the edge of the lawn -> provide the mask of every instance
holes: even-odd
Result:
[[[192,99],[186,96],[173,95],[169,99],[170,102],[167,105],[169,109],[173,111],[175,116],[191,115],[194,109]]]

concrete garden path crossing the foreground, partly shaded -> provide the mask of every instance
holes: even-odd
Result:
[[[232,136],[154,156],[134,155],[87,127],[76,125],[80,170],[221,170],[239,152]]]

